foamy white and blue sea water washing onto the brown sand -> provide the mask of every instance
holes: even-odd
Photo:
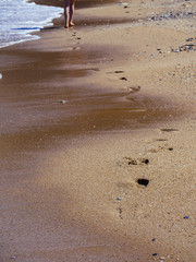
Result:
[[[61,8],[38,5],[27,0],[0,0],[0,48],[39,38],[30,33],[52,25]]]

